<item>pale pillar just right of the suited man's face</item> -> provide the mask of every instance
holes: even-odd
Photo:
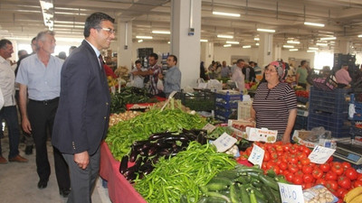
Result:
[[[132,22],[119,21],[117,27],[117,66],[132,69]]]

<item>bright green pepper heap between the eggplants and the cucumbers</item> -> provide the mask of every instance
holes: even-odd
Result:
[[[197,202],[205,186],[219,171],[233,169],[236,162],[213,145],[191,142],[186,151],[170,159],[161,158],[154,171],[135,180],[135,189],[148,203]]]

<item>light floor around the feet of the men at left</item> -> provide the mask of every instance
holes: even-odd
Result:
[[[3,156],[7,159],[8,138],[1,139]],[[58,185],[55,179],[54,162],[51,143],[48,142],[48,156],[51,163],[52,174],[48,187],[38,189],[38,175],[36,173],[35,154],[25,155],[24,144],[20,144],[19,151],[29,161],[26,163],[8,162],[0,164],[0,202],[1,203],[65,203],[67,198],[59,195]],[[97,181],[92,195],[93,203],[110,203],[108,190],[101,186],[101,180]]]

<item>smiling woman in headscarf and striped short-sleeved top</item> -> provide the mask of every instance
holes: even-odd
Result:
[[[256,89],[252,102],[252,119],[257,128],[277,130],[277,141],[291,142],[291,131],[297,117],[297,97],[284,82],[286,70],[280,61],[272,61],[264,71],[266,82]]]

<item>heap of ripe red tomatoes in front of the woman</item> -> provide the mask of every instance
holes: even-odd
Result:
[[[300,144],[291,143],[255,143],[265,151],[262,170],[273,170],[284,175],[293,184],[309,189],[322,184],[338,198],[344,198],[350,189],[362,185],[362,174],[351,167],[349,162],[333,161],[329,158],[324,164],[310,162],[311,150]],[[240,152],[240,160],[247,159],[252,146]]]

